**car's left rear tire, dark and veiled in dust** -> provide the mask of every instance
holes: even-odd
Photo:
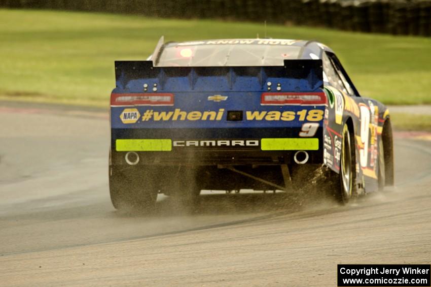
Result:
[[[122,211],[151,213],[154,211],[158,190],[153,184],[148,184],[144,171],[130,167],[127,172],[121,172],[115,166],[110,166],[109,185],[113,206]],[[151,179],[147,178],[147,181]]]

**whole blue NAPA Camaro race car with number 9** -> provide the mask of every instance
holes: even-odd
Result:
[[[116,61],[115,74],[115,208],[151,211],[158,193],[193,202],[201,189],[304,185],[347,203],[393,184],[388,109],[361,97],[321,43],[162,37],[147,60]]]

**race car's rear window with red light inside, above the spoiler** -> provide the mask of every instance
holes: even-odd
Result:
[[[157,67],[283,66],[297,59],[301,47],[290,45],[184,45],[168,44]]]

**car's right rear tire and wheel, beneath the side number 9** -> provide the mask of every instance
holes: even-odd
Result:
[[[335,176],[335,198],[341,204],[347,204],[355,197],[355,149],[353,131],[347,123],[343,126],[340,155],[340,173]],[[338,178],[337,178],[338,177]]]

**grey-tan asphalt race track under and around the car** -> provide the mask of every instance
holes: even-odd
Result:
[[[111,205],[107,113],[0,103],[0,123],[0,285],[336,286],[339,263],[431,258],[424,134],[397,134],[395,188],[349,206],[206,192],[146,217]]]

